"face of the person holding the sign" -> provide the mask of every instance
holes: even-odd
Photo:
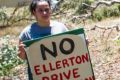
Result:
[[[34,16],[38,22],[46,23],[50,21],[51,9],[46,1],[38,2],[34,11]]]

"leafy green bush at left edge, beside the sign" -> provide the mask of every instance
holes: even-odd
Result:
[[[0,48],[0,76],[9,76],[12,68],[23,63],[23,61],[17,57],[17,45],[10,42],[9,39],[10,36],[5,36],[0,39],[2,42]]]

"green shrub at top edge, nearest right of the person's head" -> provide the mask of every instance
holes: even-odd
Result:
[[[85,5],[82,5],[82,3],[90,5],[94,0],[65,0],[64,3],[62,3],[61,8],[64,10],[74,10],[75,14],[83,14],[86,13],[86,7]]]

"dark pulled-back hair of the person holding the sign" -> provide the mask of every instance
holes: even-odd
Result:
[[[35,9],[37,7],[37,3],[42,2],[42,1],[46,1],[49,4],[49,6],[51,7],[51,0],[32,0],[31,4],[29,6],[31,14],[33,14],[33,11],[35,11]]]

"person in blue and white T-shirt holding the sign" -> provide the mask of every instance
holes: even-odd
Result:
[[[33,40],[67,31],[64,24],[51,20],[50,16],[52,12],[51,3],[49,0],[33,0],[30,4],[30,12],[35,17],[36,22],[28,25],[19,36],[18,56],[22,59],[27,59],[23,41]],[[29,80],[33,80],[29,64],[28,74]]]

